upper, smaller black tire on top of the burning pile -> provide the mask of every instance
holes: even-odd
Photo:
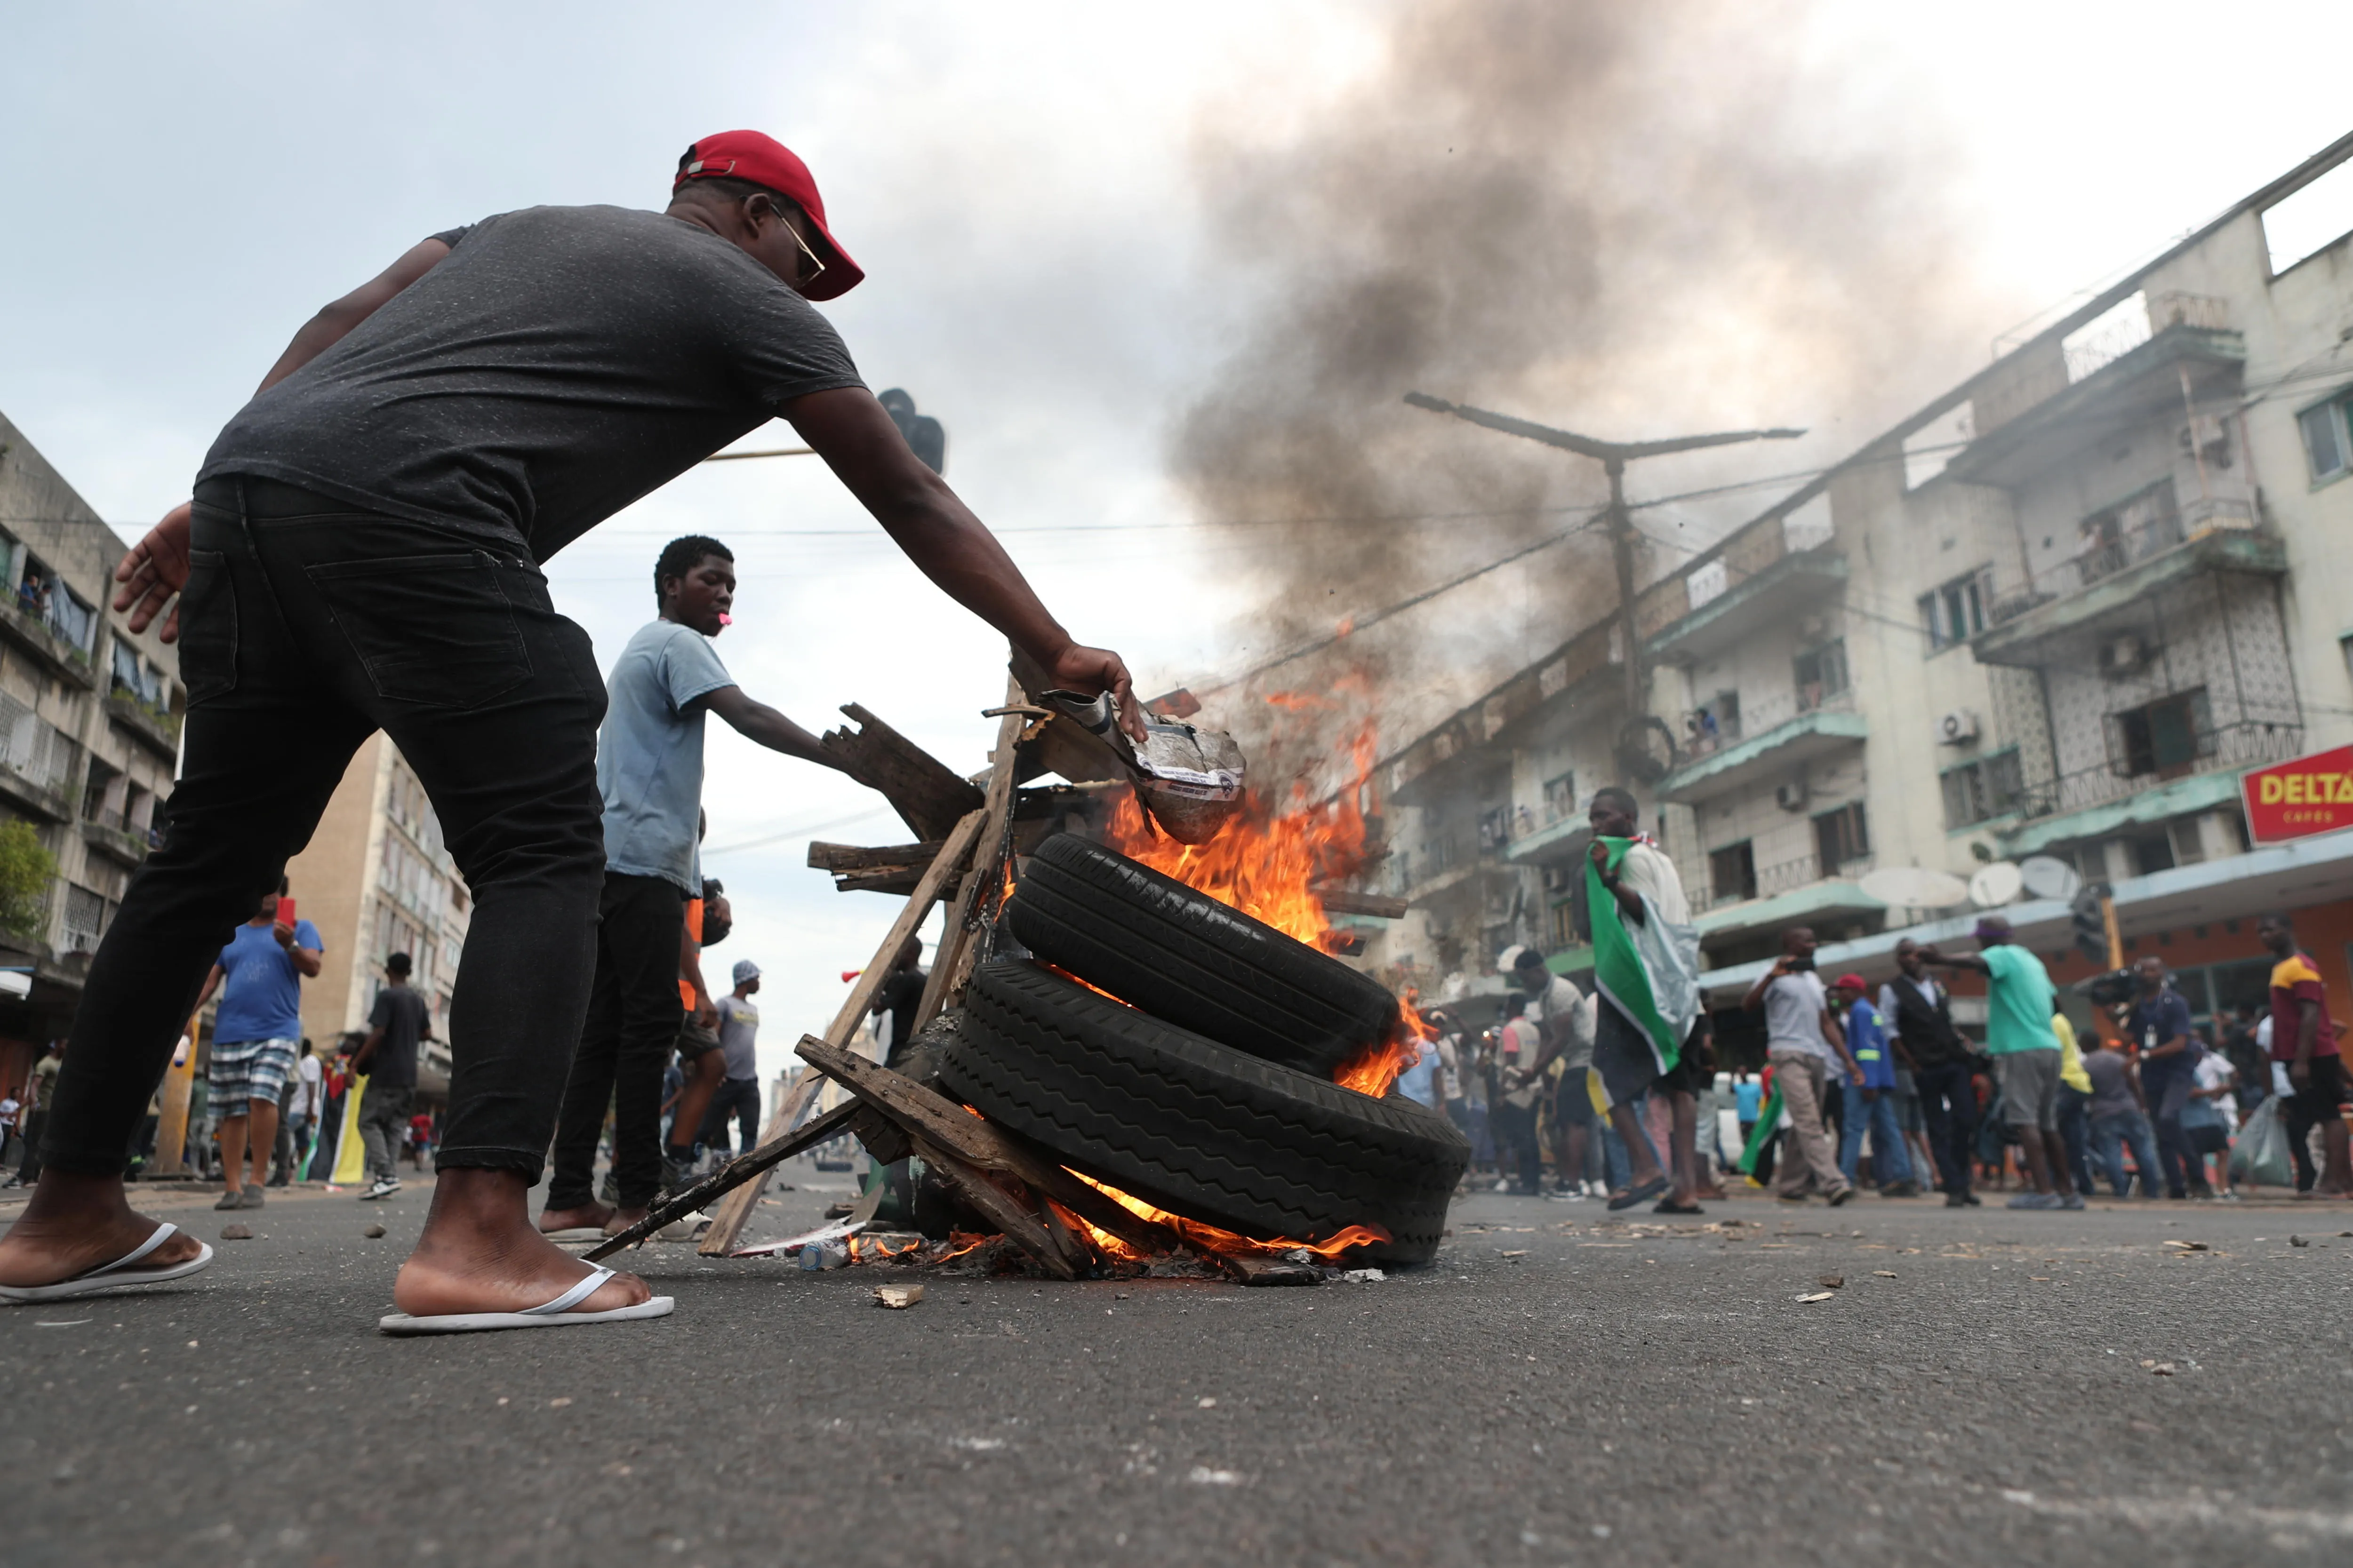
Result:
[[[1311,1077],[1332,1077],[1398,1023],[1398,999],[1372,976],[1075,835],[1038,846],[1009,919],[1047,964]]]

